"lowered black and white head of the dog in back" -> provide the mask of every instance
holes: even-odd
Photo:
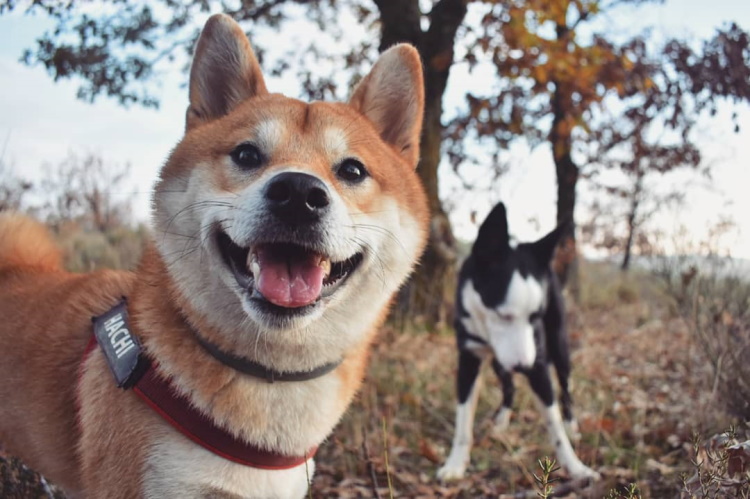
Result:
[[[550,262],[565,227],[514,247],[505,206],[498,203],[479,228],[459,299],[472,320],[481,322],[477,332],[506,368],[530,367],[536,358],[534,330],[544,318]]]

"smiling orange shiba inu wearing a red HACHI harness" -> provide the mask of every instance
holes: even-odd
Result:
[[[421,62],[308,104],[216,15],[189,99],[134,273],[0,216],[0,442],[73,496],[302,497],[426,242]]]

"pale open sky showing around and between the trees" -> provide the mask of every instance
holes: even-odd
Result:
[[[653,26],[661,34],[680,37],[711,36],[716,27],[737,22],[750,30],[750,2],[737,0],[667,0],[660,6],[620,9],[603,21],[609,33],[629,34]],[[161,81],[158,110],[125,109],[112,100],[98,99],[93,105],[75,98],[76,82],[53,82],[41,67],[29,68],[18,59],[52,24],[44,16],[18,13],[0,16],[0,157],[15,173],[30,179],[43,175],[43,164],[56,165],[70,153],[92,152],[105,160],[131,165],[134,214],[147,219],[151,186],[159,168],[184,130],[187,89],[185,76],[175,72]],[[445,106],[459,105],[465,88],[476,81],[460,68],[451,73]],[[271,83],[273,91],[294,88],[289,82]],[[291,95],[296,97],[295,95]],[[730,112],[723,109],[701,124],[699,143],[705,158],[714,165],[711,190],[691,190],[688,203],[678,211],[664,213],[659,224],[669,231],[687,225],[696,238],[722,216],[737,223],[725,244],[736,257],[750,259],[750,109],[740,110],[740,133],[733,133]],[[539,237],[551,230],[555,220],[555,178],[547,148],[512,151],[516,165],[503,177],[497,191],[471,196],[458,203],[452,221],[457,235],[472,240],[476,222],[498,200],[508,206],[511,231],[521,240]],[[579,218],[584,215],[579,209]]]

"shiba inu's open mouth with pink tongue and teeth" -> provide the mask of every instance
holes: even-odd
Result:
[[[220,228],[216,240],[224,263],[240,287],[251,299],[275,311],[301,309],[331,296],[364,258],[356,253],[332,262],[327,255],[294,243],[245,248]]]

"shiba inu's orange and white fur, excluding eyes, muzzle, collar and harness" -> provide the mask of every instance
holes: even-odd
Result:
[[[136,272],[68,273],[39,224],[0,216],[0,441],[11,452],[90,497],[291,494],[286,478],[275,478],[287,475],[248,474],[201,453],[132,392],[116,388],[99,349],[83,364],[82,354],[91,317],[127,296],[132,332],[199,410],[280,453],[300,455],[320,444],[358,390],[370,343],[427,238],[427,203],[414,172],[424,100],[416,51],[386,52],[372,75],[350,104],[268,94],[241,29],[214,16],[196,49],[185,137],[155,189],[155,239]],[[268,142],[263,169],[236,168],[233,148],[261,139]],[[366,165],[371,179],[342,183],[333,168],[348,157]],[[269,332],[248,319],[237,291],[221,284],[227,270],[203,232],[220,222],[206,223],[205,213],[290,168],[325,182],[352,226],[364,221],[350,239],[369,241],[365,250],[374,254],[361,271],[369,274],[355,271],[321,305],[328,307],[324,320]],[[254,220],[243,206],[221,220],[230,215]],[[383,227],[368,232],[372,223]],[[206,293],[207,286],[216,289]],[[196,335],[281,371],[342,362],[316,380],[269,384],[208,355]],[[186,452],[200,457],[183,462]],[[295,480],[306,487],[301,473]]]

